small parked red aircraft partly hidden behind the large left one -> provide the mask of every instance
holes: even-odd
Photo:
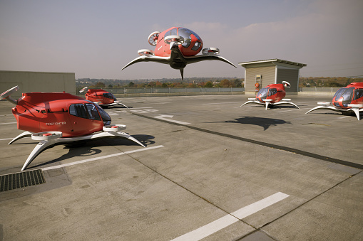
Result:
[[[86,91],[88,87],[84,87],[79,92],[82,93]],[[115,105],[123,105],[123,103],[119,102],[114,95],[106,90],[101,89],[88,89],[86,94],[86,100],[90,100],[92,102],[96,102],[101,107],[111,107]],[[126,105],[124,107],[128,108]]]

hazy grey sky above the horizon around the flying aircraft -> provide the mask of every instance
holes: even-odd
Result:
[[[362,0],[0,0],[0,70],[119,80],[179,78],[136,63],[148,36],[189,28],[232,63],[282,59],[302,77],[363,76]],[[184,77],[244,77],[221,61],[187,65]]]

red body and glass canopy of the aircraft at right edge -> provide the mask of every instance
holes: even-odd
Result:
[[[353,82],[335,92],[332,100],[335,107],[348,109],[349,104],[363,104],[363,82]]]

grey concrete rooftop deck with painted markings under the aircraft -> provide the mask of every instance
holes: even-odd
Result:
[[[240,107],[248,97],[123,98],[130,109],[106,111],[146,148],[42,152],[28,170],[46,183],[0,193],[0,240],[363,240],[363,120],[305,114],[326,95],[267,111]],[[0,175],[37,144],[7,145],[21,133],[11,107],[0,102]]]

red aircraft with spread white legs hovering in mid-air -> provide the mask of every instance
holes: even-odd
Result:
[[[237,68],[227,59],[218,55],[218,48],[203,48],[202,38],[188,28],[173,27],[163,32],[153,32],[148,37],[148,43],[155,45],[155,51],[149,49],[138,50],[140,57],[132,60],[122,70],[134,63],[153,61],[170,65],[180,70],[182,80],[184,68],[189,63],[203,60],[221,60]],[[202,50],[202,55],[197,55]]]

